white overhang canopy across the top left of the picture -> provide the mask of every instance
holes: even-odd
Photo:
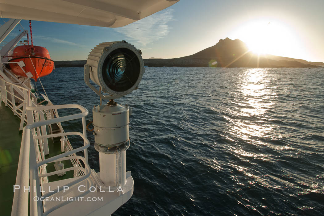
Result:
[[[0,0],[0,17],[121,27],[179,0]]]

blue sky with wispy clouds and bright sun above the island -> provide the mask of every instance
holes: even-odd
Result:
[[[0,24],[7,20],[0,18]],[[29,30],[28,20],[21,25]],[[54,61],[86,60],[97,44],[121,40],[142,50],[144,59],[177,58],[228,37],[256,53],[324,62],[324,1],[180,0],[120,28],[32,21],[32,35]]]

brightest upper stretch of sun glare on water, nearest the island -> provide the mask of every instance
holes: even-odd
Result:
[[[268,87],[270,79],[266,68],[252,68],[239,74],[239,82],[235,98],[235,108],[228,110],[232,116],[224,116],[235,126],[230,128],[234,137],[246,141],[255,141],[272,130],[272,125],[265,124],[264,114],[272,108],[270,97],[275,97]],[[238,96],[238,97],[237,97]]]

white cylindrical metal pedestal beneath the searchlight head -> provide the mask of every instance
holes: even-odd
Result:
[[[130,145],[130,108],[107,104],[99,105],[92,111],[100,180],[107,187],[123,187],[126,184],[126,150]]]

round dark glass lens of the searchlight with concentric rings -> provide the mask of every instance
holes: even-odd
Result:
[[[126,48],[109,53],[102,65],[102,78],[113,91],[130,89],[140,76],[141,66],[136,54]]]

